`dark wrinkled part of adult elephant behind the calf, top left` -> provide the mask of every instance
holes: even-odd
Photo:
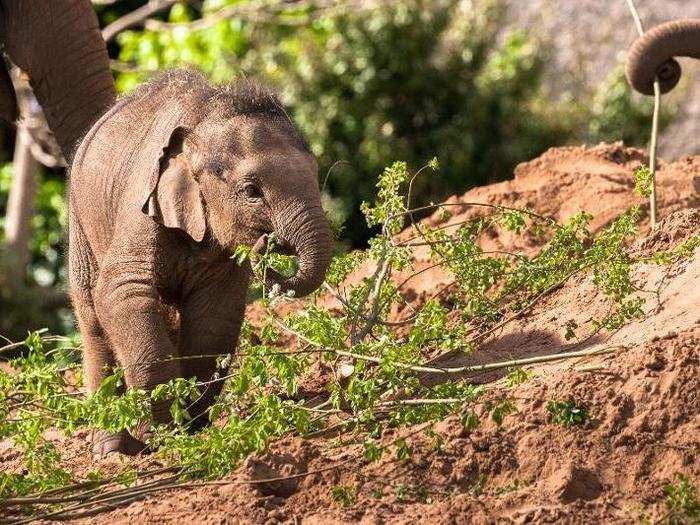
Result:
[[[0,42],[29,76],[49,127],[70,158],[116,97],[90,0],[0,0]],[[0,117],[12,121],[16,116],[12,86],[3,71]]]

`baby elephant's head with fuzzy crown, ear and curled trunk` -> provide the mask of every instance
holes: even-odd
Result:
[[[167,134],[144,211],[224,250],[260,246],[274,232],[299,258],[295,276],[274,279],[297,296],[310,293],[323,282],[331,239],[306,141],[264,88],[188,82],[183,99],[194,102],[180,101],[184,117]]]

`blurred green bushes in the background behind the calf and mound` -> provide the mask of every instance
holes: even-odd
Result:
[[[106,26],[143,3],[95,8]],[[319,157],[326,208],[342,225],[346,248],[366,245],[371,232],[360,203],[397,158],[413,168],[440,160],[440,172],[415,188],[419,205],[507,179],[515,165],[551,146],[646,143],[650,102],[632,95],[621,68],[595,92],[555,98],[542,74],[547,35],[507,27],[499,0],[404,0],[368,10],[309,4],[244,12],[201,29],[186,25],[247,3],[175,4],[159,27],[122,32],[109,45],[118,89],[128,92],[176,66],[200,68],[214,82],[255,76],[273,85]],[[5,165],[0,215],[9,177]],[[44,286],[65,282],[64,180],[57,170],[44,170],[41,180],[28,277]],[[18,320],[6,321],[3,333]]]

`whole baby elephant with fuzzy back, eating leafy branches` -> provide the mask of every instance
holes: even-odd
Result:
[[[69,221],[90,392],[114,366],[146,391],[176,377],[210,381],[215,355],[235,348],[251,279],[230,259],[236,246],[274,232],[299,269],[273,279],[297,297],[320,286],[330,257],[316,161],[278,99],[187,71],[142,86],[88,132],[71,168]],[[220,390],[210,383],[189,408],[195,427]],[[168,421],[167,403],[153,418]],[[147,437],[147,424],[99,432],[93,451],[134,453]]]

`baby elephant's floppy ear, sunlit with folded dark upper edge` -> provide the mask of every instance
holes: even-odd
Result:
[[[204,238],[206,219],[199,184],[182,153],[183,130],[173,132],[160,159],[159,176],[144,212],[167,228],[186,232],[195,241]]]

